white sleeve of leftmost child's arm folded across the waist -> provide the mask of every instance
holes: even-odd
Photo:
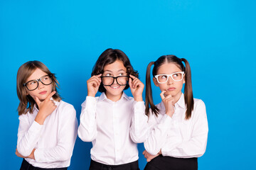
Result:
[[[36,149],[34,152],[36,162],[63,162],[71,158],[78,136],[75,108],[70,105],[63,107],[60,110],[58,123],[57,145],[51,148]]]

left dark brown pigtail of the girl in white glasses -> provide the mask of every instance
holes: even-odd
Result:
[[[151,89],[151,78],[150,78],[150,69],[154,62],[150,62],[146,68],[146,115],[149,116],[149,105],[151,106],[152,112],[157,116],[159,113],[159,108],[156,108],[152,98],[152,89]]]

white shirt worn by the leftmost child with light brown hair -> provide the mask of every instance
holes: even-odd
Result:
[[[78,120],[75,109],[64,101],[55,101],[57,108],[48,115],[43,125],[35,121],[38,109],[18,117],[18,152],[28,157],[32,150],[35,159],[26,161],[40,168],[70,166],[70,159],[78,135]]]

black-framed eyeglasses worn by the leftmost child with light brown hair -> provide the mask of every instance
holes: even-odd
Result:
[[[24,83],[23,86],[26,86],[26,88],[29,91],[33,91],[33,90],[36,90],[38,88],[39,81],[41,81],[41,83],[44,84],[44,85],[52,84],[53,83],[52,77],[53,77],[53,74],[49,74],[49,75],[41,77],[40,79],[35,79],[35,80],[28,81],[28,82]]]

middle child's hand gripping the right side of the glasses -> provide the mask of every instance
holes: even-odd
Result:
[[[144,89],[144,84],[137,77],[133,75],[129,75],[129,87],[132,92],[132,96],[134,96],[135,101],[143,101],[142,92]]]

